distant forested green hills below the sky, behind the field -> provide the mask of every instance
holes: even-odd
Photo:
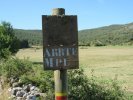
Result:
[[[30,46],[43,43],[41,30],[15,29],[15,35]],[[80,46],[133,45],[133,23],[81,30],[78,37]]]

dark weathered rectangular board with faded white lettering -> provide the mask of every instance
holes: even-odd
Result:
[[[79,66],[77,16],[42,16],[45,70]]]

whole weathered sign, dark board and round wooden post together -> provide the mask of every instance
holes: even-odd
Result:
[[[67,69],[79,66],[77,16],[56,8],[52,16],[42,15],[45,70],[54,70],[55,100],[68,100]]]

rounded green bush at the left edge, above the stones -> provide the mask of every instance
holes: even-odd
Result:
[[[20,60],[18,58],[11,58],[4,61],[1,65],[1,73],[7,77],[19,78],[22,75],[28,75],[32,72],[32,63],[27,60]]]

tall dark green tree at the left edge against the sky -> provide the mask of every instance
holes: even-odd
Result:
[[[19,49],[19,40],[14,35],[13,27],[8,22],[0,24],[0,59],[8,58]]]

